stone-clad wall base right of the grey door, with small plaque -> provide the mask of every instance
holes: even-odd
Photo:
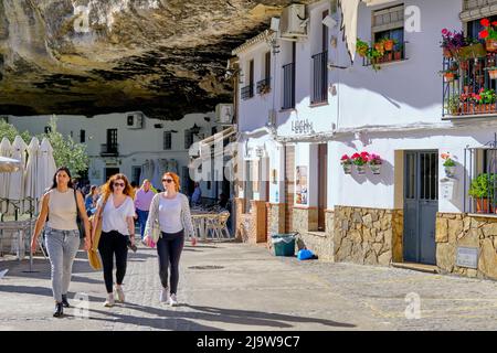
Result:
[[[466,214],[436,215],[436,266],[443,274],[497,279],[497,218]],[[478,268],[456,265],[457,247],[478,249]]]

